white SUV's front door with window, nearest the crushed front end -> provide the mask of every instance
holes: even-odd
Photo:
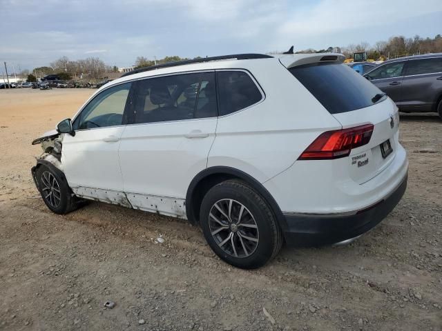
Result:
[[[99,92],[73,121],[75,135],[63,138],[64,174],[81,197],[128,205],[122,193],[118,148],[130,89],[131,83],[122,83]]]

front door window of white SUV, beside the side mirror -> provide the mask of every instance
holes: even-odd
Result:
[[[74,130],[122,125],[130,89],[131,83],[124,83],[99,93],[81,110],[73,123]]]

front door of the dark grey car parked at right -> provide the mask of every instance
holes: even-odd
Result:
[[[381,91],[387,93],[396,104],[401,103],[402,79],[405,61],[385,63],[374,70],[367,72],[364,76],[368,78]]]

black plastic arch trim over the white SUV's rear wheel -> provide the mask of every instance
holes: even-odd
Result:
[[[269,203],[281,230],[284,231],[287,228],[285,217],[282,214],[278,203],[276,203],[269,191],[259,181],[246,172],[225,166],[215,166],[202,170],[202,172],[198,173],[191,181],[186,193],[186,215],[189,222],[195,225],[199,224],[200,205],[204,195],[214,185],[229,179],[240,179],[256,190],[261,197]]]

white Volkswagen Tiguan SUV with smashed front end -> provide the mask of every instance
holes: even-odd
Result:
[[[257,268],[289,245],[348,241],[407,185],[398,110],[341,54],[237,54],[143,68],[32,143],[48,208],[82,199],[188,219]]]

